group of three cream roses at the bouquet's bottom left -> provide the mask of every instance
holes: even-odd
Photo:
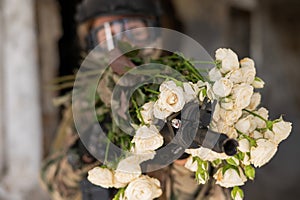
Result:
[[[103,188],[125,188],[120,200],[152,200],[162,194],[159,180],[142,175],[140,158],[130,156],[121,160],[116,170],[95,167],[88,172],[88,180]]]

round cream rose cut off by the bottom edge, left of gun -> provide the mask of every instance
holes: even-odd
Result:
[[[141,176],[130,182],[125,190],[125,199],[152,200],[162,195],[159,180]]]

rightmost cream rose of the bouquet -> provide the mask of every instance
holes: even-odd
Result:
[[[282,140],[285,140],[292,131],[292,123],[281,120],[273,124],[274,138],[273,142],[279,144]]]

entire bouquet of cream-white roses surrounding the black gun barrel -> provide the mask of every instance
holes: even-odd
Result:
[[[192,62],[184,63],[185,67],[177,70],[185,74],[186,82],[161,76],[165,80],[159,86],[144,86],[141,90],[147,91],[143,101],[139,99],[141,96],[133,95],[136,130],[128,150],[134,154],[120,159],[116,167],[102,166],[89,171],[88,179],[92,183],[120,188],[115,199],[154,199],[162,194],[160,182],[143,175],[140,164],[153,159],[156,150],[164,144],[154,122],[166,121],[191,101],[199,105],[205,99],[217,102],[209,129],[235,139],[239,146],[234,156],[202,146],[186,149],[190,157],[185,167],[195,172],[199,184],[213,178],[216,184],[233,188],[233,199],[243,199],[243,191],[238,186],[248,179],[254,180],[255,168],[268,163],[279,143],[289,136],[290,122],[282,117],[270,120],[268,110],[258,107],[261,95],[255,89],[263,88],[264,82],[256,77],[252,59],[239,61],[232,50],[218,49],[209,79],[203,79]],[[180,121],[172,122],[174,127],[180,125]],[[209,176],[210,170],[214,170],[213,177]]]

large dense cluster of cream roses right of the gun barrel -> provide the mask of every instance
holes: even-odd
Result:
[[[199,166],[190,161],[192,158],[210,162],[217,169],[213,176],[216,183],[226,188],[235,187],[232,198],[242,199],[243,193],[236,186],[254,179],[254,167],[261,167],[271,160],[278,144],[289,136],[292,126],[282,118],[270,121],[268,110],[258,108],[261,95],[254,89],[263,88],[264,82],[256,77],[252,59],[244,58],[239,62],[232,50],[218,49],[216,63],[209,72],[213,82],[212,96],[218,102],[210,128],[238,140],[238,154],[229,157],[203,147],[187,149],[186,153],[191,156],[186,167],[197,171]]]

